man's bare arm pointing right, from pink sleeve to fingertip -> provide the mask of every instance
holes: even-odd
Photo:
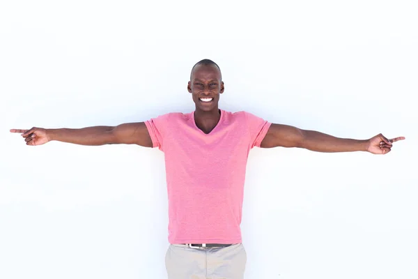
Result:
[[[386,154],[391,151],[393,142],[398,140],[405,140],[405,137],[395,137],[389,140],[379,134],[369,140],[343,139],[314,130],[302,130],[293,126],[272,123],[261,142],[261,147],[283,146],[318,152],[369,151],[373,154]]]

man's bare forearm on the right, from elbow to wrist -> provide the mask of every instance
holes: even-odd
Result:
[[[333,137],[314,130],[302,130],[302,148],[318,152],[367,151],[369,140],[353,140]]]

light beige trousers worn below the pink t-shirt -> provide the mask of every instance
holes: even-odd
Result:
[[[242,243],[214,248],[170,244],[165,262],[169,279],[242,279],[247,252]]]

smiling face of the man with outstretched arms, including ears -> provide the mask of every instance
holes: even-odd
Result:
[[[192,73],[192,80],[187,84],[187,90],[192,93],[196,110],[218,110],[219,94],[224,93],[224,82],[221,73],[215,65],[197,65]],[[201,99],[212,99],[209,102]]]

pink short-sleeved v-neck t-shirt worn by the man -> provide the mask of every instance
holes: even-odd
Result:
[[[247,158],[271,123],[249,112],[221,110],[203,133],[194,112],[145,121],[153,147],[164,152],[169,197],[169,243],[241,243]]]

